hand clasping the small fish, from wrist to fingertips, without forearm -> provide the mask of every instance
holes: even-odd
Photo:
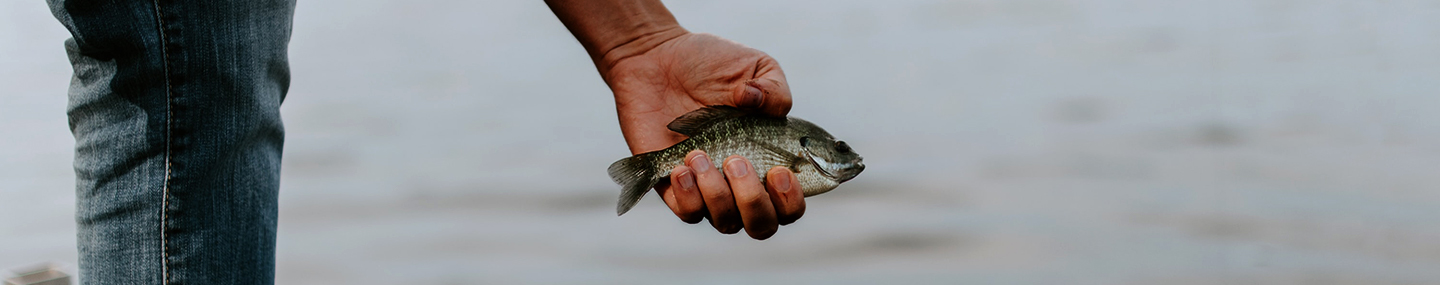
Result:
[[[713,35],[683,33],[639,55],[625,56],[603,78],[615,92],[621,132],[631,153],[662,150],[685,140],[665,125],[707,105],[730,105],[773,117],[791,109],[785,73],[769,55]],[[721,233],[744,227],[755,239],[775,235],[805,213],[805,199],[789,168],[775,167],[760,178],[744,157],[727,157],[720,168],[704,151],[685,155],[670,183],[655,187],[685,223],[710,219]]]

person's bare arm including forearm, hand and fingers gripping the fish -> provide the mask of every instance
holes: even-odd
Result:
[[[615,94],[631,153],[684,140],[665,128],[706,105],[732,105],[783,117],[791,109],[785,73],[769,55],[713,35],[690,33],[658,0],[546,0],[585,46]],[[805,213],[795,174],[785,167],[757,178],[743,157],[711,166],[693,151],[655,190],[681,220],[710,219],[721,233],[742,227],[755,239],[775,235]],[[744,171],[734,171],[744,170]]]

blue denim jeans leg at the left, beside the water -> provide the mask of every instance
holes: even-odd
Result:
[[[50,0],[82,284],[274,284],[292,0]]]

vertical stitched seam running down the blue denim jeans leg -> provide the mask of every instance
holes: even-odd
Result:
[[[171,158],[171,122],[174,121],[174,86],[170,85],[170,42],[166,39],[166,20],[160,12],[160,0],[156,4],[156,32],[160,35],[160,60],[166,78],[166,177],[160,189],[160,282],[170,284],[170,236],[166,235],[170,212],[170,158]]]

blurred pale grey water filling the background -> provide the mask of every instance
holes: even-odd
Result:
[[[765,242],[615,217],[543,3],[301,1],[278,282],[1440,282],[1440,1],[667,4],[867,171]],[[73,263],[68,33],[0,9],[0,268]]]

